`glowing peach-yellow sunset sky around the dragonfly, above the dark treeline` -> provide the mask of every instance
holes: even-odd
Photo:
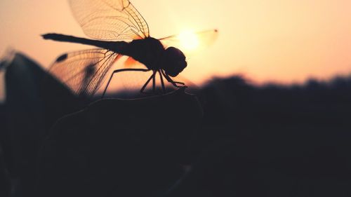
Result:
[[[351,73],[350,0],[133,0],[161,38],[216,28],[218,39],[188,60],[183,76],[201,83],[241,74],[256,83],[296,83]],[[44,67],[67,51],[91,48],[41,39],[84,36],[67,1],[1,0],[0,55],[20,50]]]

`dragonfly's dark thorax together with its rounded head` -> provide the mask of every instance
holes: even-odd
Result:
[[[158,39],[152,37],[131,41],[123,52],[124,55],[145,64],[148,69],[164,69],[170,76],[177,76],[187,67],[182,51],[174,47],[165,49]]]

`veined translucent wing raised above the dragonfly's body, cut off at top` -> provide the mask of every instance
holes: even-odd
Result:
[[[145,39],[149,27],[128,0],[69,0],[74,17],[93,39]]]

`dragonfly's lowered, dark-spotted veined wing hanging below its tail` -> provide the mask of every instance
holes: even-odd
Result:
[[[106,49],[66,53],[58,57],[50,72],[77,95],[92,96],[118,56]]]

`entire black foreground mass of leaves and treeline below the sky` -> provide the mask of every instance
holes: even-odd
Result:
[[[350,90],[350,77],[233,76],[197,90],[199,103],[178,90],[86,107],[17,54],[0,107],[1,195],[350,196]]]

